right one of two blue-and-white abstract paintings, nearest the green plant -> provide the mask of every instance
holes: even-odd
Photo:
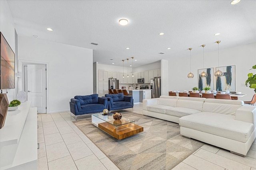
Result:
[[[216,90],[230,92],[236,91],[236,66],[224,66],[216,68],[223,72],[223,76],[216,77]]]

